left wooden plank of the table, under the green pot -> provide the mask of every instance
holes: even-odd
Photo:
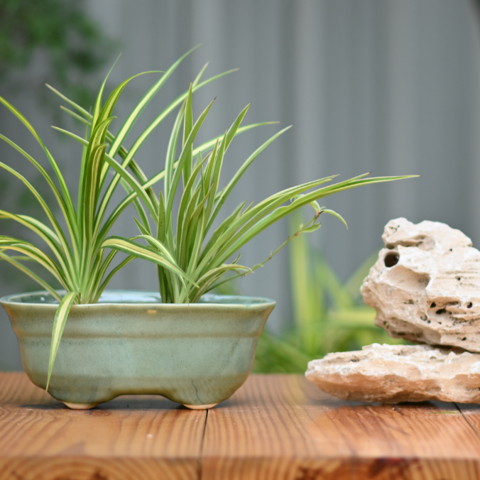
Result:
[[[70,410],[0,373],[0,480],[197,479],[205,418],[159,396]]]

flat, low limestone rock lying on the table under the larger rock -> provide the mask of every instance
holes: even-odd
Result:
[[[305,376],[342,400],[480,403],[480,354],[458,349],[372,344],[312,360]]]

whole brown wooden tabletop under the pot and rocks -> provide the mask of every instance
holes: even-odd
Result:
[[[365,405],[253,375],[208,412],[155,396],[68,410],[0,374],[0,480],[480,479],[480,408]]]

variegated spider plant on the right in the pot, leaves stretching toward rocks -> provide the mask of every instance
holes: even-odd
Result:
[[[332,175],[290,187],[258,204],[247,205],[247,202],[242,202],[227,217],[219,221],[219,212],[224,202],[253,160],[289,127],[259,146],[244,161],[227,185],[221,188],[220,174],[224,156],[239,131],[249,105],[240,112],[222,138],[212,142],[207,155],[202,156],[202,152],[194,149],[193,143],[213,101],[194,122],[192,92],[191,85],[173,126],[165,157],[163,191],[160,190],[158,196],[144,190],[144,185],[148,185],[148,182],[142,186],[126,170],[125,165],[120,165],[113,158],[107,158],[109,165],[141,198],[148,212],[138,209],[138,219],[135,219],[139,229],[137,236],[131,239],[111,236],[103,242],[103,247],[156,263],[163,302],[197,302],[204,293],[230,280],[222,278],[225,273],[234,271],[234,276],[241,276],[263,266],[293,237],[283,242],[265,261],[252,268],[240,265],[239,255],[236,258],[233,256],[261,231],[300,207],[310,204],[315,214],[309,222],[300,226],[295,236],[318,229],[320,227],[318,219],[322,213],[332,214],[344,222],[336,212],[320,207],[317,200],[360,185],[408,178],[408,176],[365,178],[368,174],[364,174],[334,185],[320,187],[336,176]],[[176,158],[175,153],[178,150],[181,153]],[[174,214],[174,201],[179,193],[180,203]],[[151,227],[148,214],[155,225],[154,229]],[[216,222],[217,227],[213,229]],[[165,261],[173,263],[183,274],[179,275],[165,268]]]

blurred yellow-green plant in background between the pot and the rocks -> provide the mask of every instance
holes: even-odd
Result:
[[[302,222],[293,214],[290,228]],[[290,242],[290,285],[293,322],[280,336],[267,331],[258,340],[256,373],[303,373],[308,361],[330,351],[358,350],[371,343],[401,344],[373,324],[375,310],[367,307],[360,286],[378,252],[370,256],[342,284],[306,235]],[[228,284],[227,284],[228,285]],[[227,287],[226,287],[227,288]],[[222,293],[227,293],[224,291]]]

